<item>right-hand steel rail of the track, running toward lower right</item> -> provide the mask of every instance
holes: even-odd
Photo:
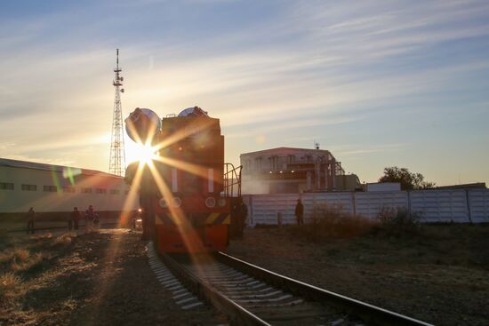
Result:
[[[374,325],[433,326],[428,322],[421,322],[404,314],[397,314],[379,306],[373,306],[357,299],[349,298],[330,290],[321,289],[317,286],[271,272],[260,266],[255,266],[239,258],[229,256],[224,252],[218,252],[215,257],[225,265],[234,267],[239,271],[250,274],[278,288],[289,290],[294,295],[337,306],[349,314],[358,316],[366,323]]]

